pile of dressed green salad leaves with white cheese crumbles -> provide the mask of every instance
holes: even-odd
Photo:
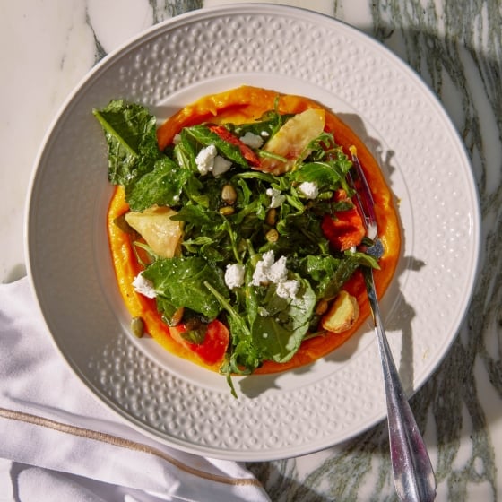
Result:
[[[232,374],[250,374],[267,359],[289,360],[318,329],[317,302],[333,299],[359,266],[378,267],[365,253],[334,250],[323,232],[325,215],[351,205],[334,202],[333,193],[353,195],[346,182],[351,160],[332,134],[320,134],[293,169],[274,176],[252,169],[239,145],[210,125],[185,127],[160,151],[155,117],[143,106],[113,100],[93,113],[108,143],[109,181],[124,186],[131,210],[156,204],[176,211],[180,253],[165,258],[150,249],[143,279],[168,325],[183,307],[187,325],[218,318],[229,326],[221,372],[230,386]],[[236,138],[251,134],[266,143],[290,117],[271,110],[251,124],[225,127]],[[208,149],[226,170],[203,173],[200,156]],[[260,146],[253,151],[273,155]],[[302,191],[305,184],[315,194]],[[200,342],[199,335],[191,340]]]

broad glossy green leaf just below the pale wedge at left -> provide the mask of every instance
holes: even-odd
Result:
[[[221,305],[204,282],[211,284],[223,298],[229,297],[221,270],[199,256],[157,260],[143,271],[143,276],[174,307],[190,308],[208,319],[220,314]]]

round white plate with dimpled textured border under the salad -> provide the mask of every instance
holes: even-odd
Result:
[[[369,324],[315,364],[224,378],[128,333],[108,253],[107,151],[91,109],[114,98],[168,117],[247,83],[333,108],[380,160],[402,222],[382,310],[409,394],[437,368],[469,303],[480,214],[454,127],[420,79],[358,30],[290,7],[239,4],[178,16],[97,65],[39,154],[27,210],[30,277],[50,333],[91,392],[144,433],[195,454],[271,460],[353,437],[385,417]]]

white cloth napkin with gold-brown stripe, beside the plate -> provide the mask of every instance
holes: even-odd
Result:
[[[56,351],[27,278],[0,285],[0,457],[1,502],[269,500],[243,464],[143,437],[91,395]]]

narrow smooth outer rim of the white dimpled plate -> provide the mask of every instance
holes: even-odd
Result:
[[[406,71],[408,74],[411,75],[412,80],[415,82],[418,82],[420,84],[420,87],[422,91],[427,92],[428,95],[428,100],[434,103],[435,108],[437,109],[438,116],[441,117],[441,119],[445,122],[448,133],[452,134],[454,136],[454,143],[457,148],[459,148],[460,154],[463,157],[463,159],[466,161],[466,165],[468,165],[471,169],[464,174],[470,175],[470,184],[469,188],[472,192],[472,201],[474,202],[474,206],[472,207],[472,212],[473,215],[476,216],[475,221],[472,221],[472,243],[473,243],[473,254],[472,254],[472,269],[471,273],[469,276],[469,294],[464,297],[463,301],[463,316],[458,319],[455,333],[453,336],[451,336],[448,340],[448,343],[446,344],[446,349],[443,351],[442,356],[436,360],[436,363],[433,368],[428,369],[428,376],[423,377],[418,383],[413,382],[415,385],[412,389],[412,392],[410,394],[413,395],[416,392],[418,392],[421,388],[422,385],[424,385],[430,376],[436,371],[437,367],[441,364],[441,362],[445,359],[448,351],[450,350],[451,346],[453,345],[455,339],[457,338],[458,331],[460,329],[460,326],[463,324],[463,320],[465,319],[465,316],[467,316],[469,305],[472,301],[472,295],[474,292],[474,285],[475,285],[475,279],[479,270],[480,266],[480,200],[479,200],[479,195],[477,192],[477,187],[475,184],[475,179],[473,177],[472,173],[472,163],[471,160],[469,159],[467,155],[467,151],[465,149],[465,146],[461,140],[460,134],[456,130],[456,128],[453,125],[453,122],[451,118],[448,116],[446,113],[446,109],[443,107],[441,104],[440,100],[438,99],[437,95],[434,94],[430,88],[428,87],[427,83],[422,80],[420,77],[420,74],[416,73],[411,66],[407,65],[402,59],[400,59],[398,56],[396,56],[393,52],[390,51],[390,49],[385,48],[383,44],[381,44],[378,40],[372,39],[367,33],[358,30],[355,27],[352,27],[348,23],[342,22],[340,20],[336,20],[330,16],[327,16],[322,13],[315,13],[313,11],[308,11],[307,9],[299,8],[299,7],[291,7],[287,5],[275,5],[275,4],[238,4],[238,5],[219,5],[211,8],[205,8],[202,10],[196,10],[196,11],[191,11],[189,13],[183,13],[179,14],[176,17],[170,18],[169,20],[166,20],[164,22],[160,22],[158,24],[155,24],[148,28],[147,30],[143,30],[141,33],[138,33],[134,35],[131,39],[126,40],[123,44],[121,44],[119,47],[111,51],[107,56],[105,56],[97,65],[94,65],[90,72],[88,72],[84,77],[81,79],[81,81],[75,86],[74,91],[72,91],[62,106],[59,108],[58,112],[56,113],[56,116],[54,117],[51,125],[48,127],[48,131],[44,136],[44,139],[42,140],[42,143],[39,148],[39,153],[36,157],[36,160],[34,162],[34,169],[32,171],[32,175],[30,177],[30,185],[29,185],[29,190],[28,190],[28,196],[27,196],[27,203],[25,206],[25,255],[30,258],[31,256],[31,250],[30,250],[30,211],[32,210],[32,197],[35,195],[35,188],[36,184],[38,183],[38,177],[40,175],[39,173],[39,166],[41,163],[41,160],[44,155],[44,151],[47,149],[48,142],[53,138],[53,134],[56,131],[57,124],[60,120],[60,118],[65,114],[68,108],[71,107],[72,102],[74,101],[75,97],[78,96],[78,94],[82,91],[82,88],[85,86],[85,84],[89,83],[92,81],[94,78],[98,78],[100,72],[103,70],[103,68],[106,69],[107,65],[114,61],[114,59],[117,56],[124,56],[126,52],[129,50],[133,50],[138,43],[144,43],[146,40],[151,39],[152,37],[154,38],[155,36],[158,36],[160,33],[164,32],[164,30],[169,30],[171,27],[174,27],[178,24],[190,22],[193,19],[198,19],[198,18],[204,18],[207,17],[206,14],[211,13],[212,15],[217,15],[217,13],[236,13],[239,15],[244,15],[246,13],[249,14],[255,14],[257,13],[257,9],[264,9],[266,7],[267,13],[270,13],[271,15],[280,15],[280,13],[288,13],[288,12],[302,12],[302,13],[307,13],[309,17],[316,17],[318,19],[323,19],[324,22],[328,22],[329,24],[334,24],[338,25],[339,27],[342,26],[344,30],[349,30],[350,32],[356,32],[359,37],[362,37],[363,39],[366,40],[366,43],[368,43],[371,47],[378,47],[381,54],[384,54],[386,57],[390,57],[393,60],[394,65],[398,65],[399,69],[401,71]],[[249,12],[247,12],[249,11]],[[253,12],[254,11],[254,12]],[[46,325],[48,327],[49,333],[51,333],[51,340],[54,342],[57,350],[61,354],[62,358],[65,360],[65,362],[72,368],[72,371],[79,377],[79,379],[82,380],[82,375],[80,374],[80,371],[78,368],[74,368],[72,363],[66,358],[65,354],[63,351],[61,351],[59,345],[56,342],[55,337],[52,335],[52,332],[50,331],[50,327],[47,324],[46,321],[46,316],[45,312],[41,308],[41,304],[39,303],[39,290],[36,284],[36,281],[34,279],[34,271],[31,268],[31,260],[28,259],[27,261],[27,271],[28,275],[30,277],[30,286],[31,290],[35,292],[35,296],[37,299],[37,303],[39,304],[39,309],[41,310],[42,313],[42,318],[46,322]],[[85,386],[91,391],[91,394],[96,394],[96,390],[91,388],[91,386],[87,383],[84,382]],[[147,434],[148,436],[154,437],[155,439],[158,439],[162,442],[166,442],[165,440],[162,439],[162,437],[159,437],[155,433],[151,433],[151,431],[146,430],[143,427],[143,424],[139,423],[134,423],[134,419],[132,417],[125,417],[123,411],[120,411],[119,409],[116,409],[116,405],[111,402],[106,395],[101,394],[99,396],[100,402],[104,402],[107,404],[108,408],[111,408],[113,411],[117,413],[117,416],[119,416],[122,420],[125,420],[126,423],[129,425],[132,425],[134,428],[139,428],[143,434]],[[370,423],[368,423],[368,426],[364,429],[355,431],[351,436],[348,436],[347,439],[350,439],[351,437],[357,436],[364,432],[364,430],[367,430],[368,428],[374,426],[377,422],[383,420],[385,418],[385,410],[381,414],[381,416],[376,419],[376,420],[370,420]],[[237,452],[231,452],[230,455],[225,454],[223,451],[216,452],[212,448],[204,448],[204,446],[186,446],[183,441],[181,441],[180,444],[176,444],[176,441],[173,441],[173,438],[169,438],[167,441],[167,444],[169,446],[174,446],[178,449],[187,451],[189,453],[195,453],[195,454],[208,454],[210,456],[216,456],[219,458],[225,458],[229,460],[250,460],[250,461],[255,461],[255,460],[273,460],[273,459],[279,459],[279,458],[285,458],[284,454],[279,453],[279,452],[273,452],[273,453],[268,453],[268,454],[261,454],[259,457],[256,457],[255,454],[249,455],[249,452],[242,452],[242,453],[237,453]],[[326,446],[332,446],[332,445],[326,445]],[[288,454],[287,457],[293,456],[293,455],[298,455],[298,454],[308,454],[308,453],[313,453],[314,451],[317,451],[319,449],[322,449],[323,447],[316,447],[314,449],[312,448],[307,448],[305,446],[290,446],[288,449]],[[291,454],[290,454],[291,453]]]

